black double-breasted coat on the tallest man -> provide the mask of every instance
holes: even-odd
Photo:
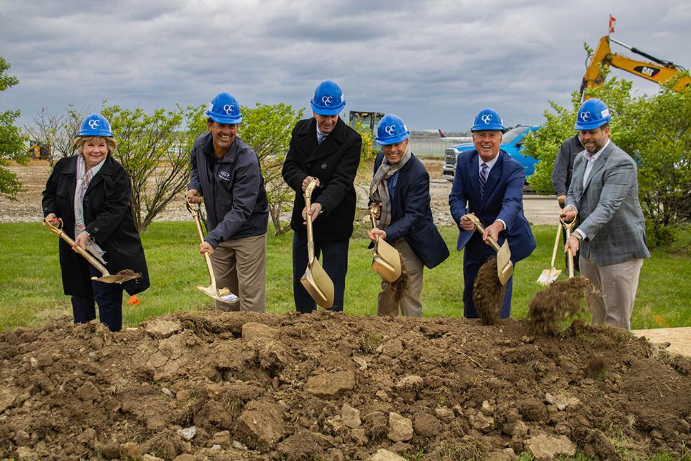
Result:
[[[307,234],[302,218],[302,182],[314,176],[319,178],[319,187],[312,192],[312,203],[321,203],[325,209],[314,221],[314,239],[328,242],[350,238],[357,203],[353,182],[361,149],[362,138],[341,118],[321,144],[316,142],[314,117],[297,122],[282,171],[283,179],[296,192],[290,220],[294,232]]]

